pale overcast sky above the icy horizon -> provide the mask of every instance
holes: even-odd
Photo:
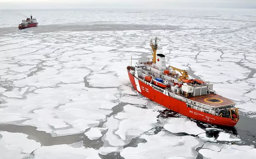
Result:
[[[256,8],[256,0],[0,0],[0,9]]]

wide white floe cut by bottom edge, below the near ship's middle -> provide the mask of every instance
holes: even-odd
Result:
[[[156,135],[142,135],[146,143],[139,143],[137,147],[127,147],[120,152],[125,159],[173,159],[183,157],[195,159],[196,148],[203,142],[192,136],[175,136],[165,131]]]

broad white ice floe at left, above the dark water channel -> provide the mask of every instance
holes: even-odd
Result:
[[[29,119],[16,124],[36,126],[37,130],[56,133],[57,136],[83,133],[112,112],[111,109],[118,104],[112,102],[117,100],[116,93],[116,88],[85,88],[83,83],[37,89],[27,94],[25,100],[5,100],[0,108],[4,110],[0,111],[0,122],[16,123]]]

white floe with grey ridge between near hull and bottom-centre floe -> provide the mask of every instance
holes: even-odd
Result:
[[[158,112],[152,109],[138,108],[133,105],[125,105],[123,112],[115,117],[110,117],[104,126],[108,128],[103,136],[112,146],[123,146],[128,144],[132,138],[140,136],[149,131],[157,123]]]

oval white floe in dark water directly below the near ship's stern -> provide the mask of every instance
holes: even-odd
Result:
[[[190,135],[205,133],[203,129],[188,118],[168,118],[164,128],[172,133],[188,133]]]

